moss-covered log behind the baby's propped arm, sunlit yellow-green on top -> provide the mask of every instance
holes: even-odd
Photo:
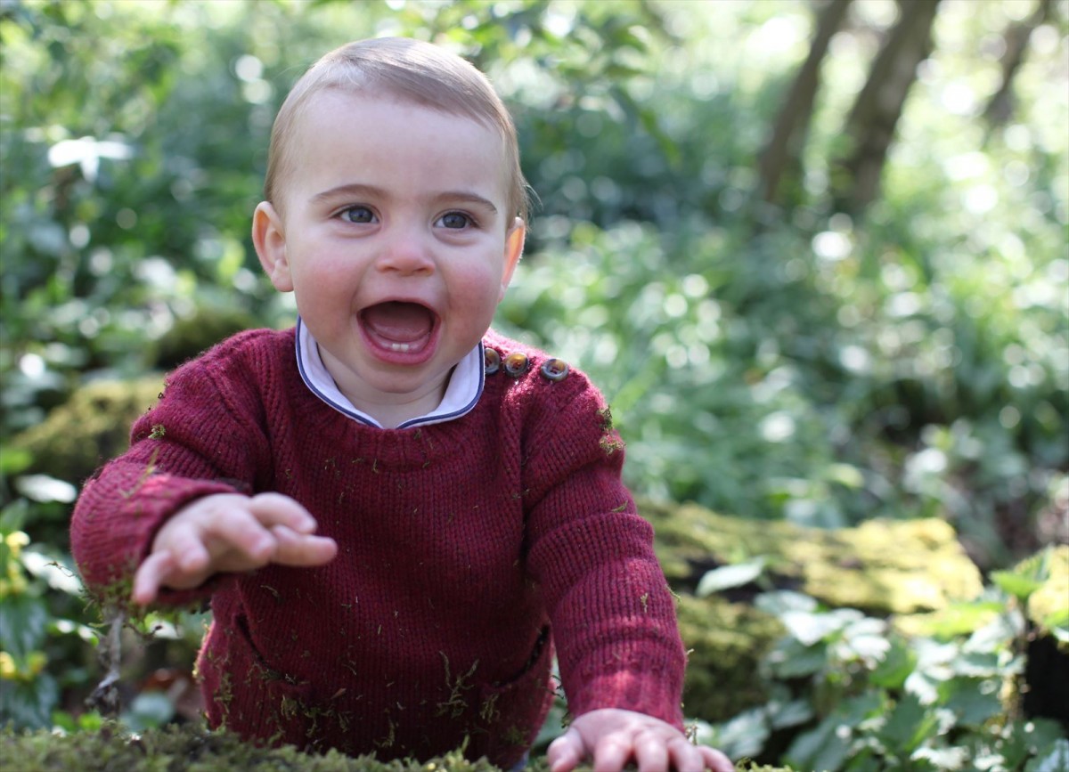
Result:
[[[696,597],[709,570],[760,557],[765,586],[885,618],[939,612],[972,600],[982,587],[954,529],[941,520],[822,530],[696,505],[641,503],[639,510],[653,523],[657,556],[680,596],[680,629],[691,650],[684,711],[703,721],[725,721],[768,701],[758,665],[784,633],[778,620],[752,605],[763,589],[757,584]]]

